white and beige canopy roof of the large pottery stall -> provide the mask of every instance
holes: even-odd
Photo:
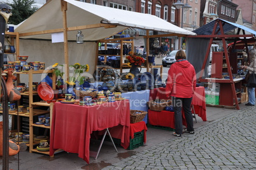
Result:
[[[77,30],[83,31],[85,41],[97,41],[117,34],[128,27],[162,31],[177,36],[196,35],[194,32],[181,29],[155,15],[118,10],[74,0],[64,1],[67,2],[68,40],[75,40]],[[53,30],[55,32],[63,31],[62,4],[64,3],[61,1],[49,1],[31,17],[19,24],[15,32],[19,32],[21,38],[51,39],[50,34],[46,33],[52,33]],[[106,24],[117,27],[108,27]],[[33,33],[30,36],[25,36],[29,34],[22,34],[27,32]]]

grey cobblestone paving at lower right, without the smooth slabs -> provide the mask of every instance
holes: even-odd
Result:
[[[234,110],[104,169],[256,169],[255,112]]]

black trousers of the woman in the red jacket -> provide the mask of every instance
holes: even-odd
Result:
[[[185,119],[187,122],[187,131],[194,131],[193,127],[193,115],[191,113],[191,98],[172,97],[174,117],[175,117],[175,132],[176,134],[182,134],[182,109],[185,113]]]

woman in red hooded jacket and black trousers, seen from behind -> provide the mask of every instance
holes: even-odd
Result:
[[[196,89],[196,71],[192,64],[186,60],[186,54],[183,50],[176,53],[176,62],[171,65],[168,71],[166,82],[166,95],[172,97],[175,132],[174,136],[181,137],[182,128],[182,108],[187,121],[185,132],[194,134],[193,117],[190,110],[192,96]]]

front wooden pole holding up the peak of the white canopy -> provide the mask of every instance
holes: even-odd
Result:
[[[69,81],[69,60],[68,60],[68,26],[67,26],[67,13],[68,4],[66,1],[60,0],[61,11],[62,11],[62,22],[63,22],[63,33],[64,33],[64,73],[66,73],[66,80]],[[65,74],[64,74],[65,76]]]

